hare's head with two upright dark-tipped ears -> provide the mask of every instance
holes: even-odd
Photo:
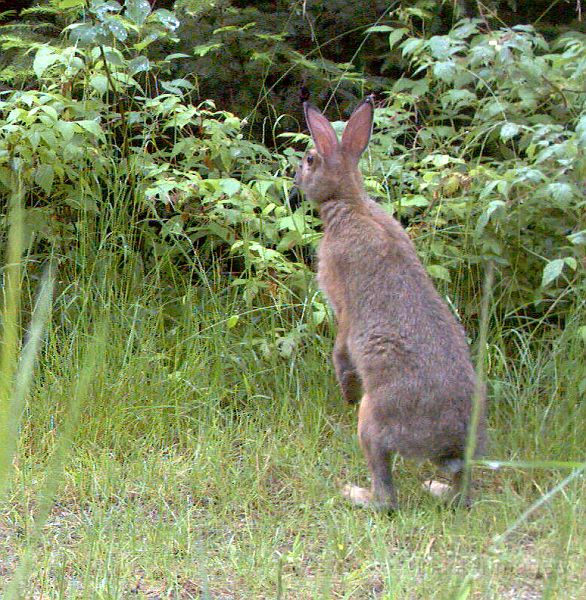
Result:
[[[303,108],[315,148],[305,153],[295,174],[295,185],[318,203],[359,200],[364,192],[358,161],[370,139],[372,99],[366,98],[352,113],[341,142],[315,106],[305,102]]]

